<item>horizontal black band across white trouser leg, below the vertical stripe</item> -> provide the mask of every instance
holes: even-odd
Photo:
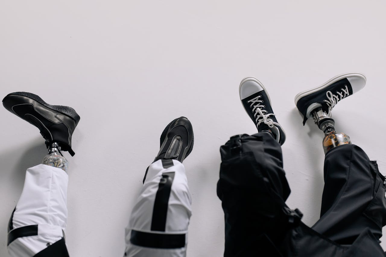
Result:
[[[133,245],[150,248],[182,248],[185,247],[185,234],[156,234],[132,230],[130,242]]]

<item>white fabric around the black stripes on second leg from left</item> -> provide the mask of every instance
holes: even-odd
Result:
[[[144,186],[130,215],[129,225],[126,228],[125,256],[186,256],[186,246],[188,244],[187,233],[191,216],[191,195],[188,188],[185,167],[177,160],[173,160],[173,164],[173,166],[164,169],[162,161],[158,160],[149,166]],[[165,232],[151,231],[154,200],[156,198],[159,181],[165,172],[175,172],[169,196]],[[185,233],[185,247],[179,249],[155,249],[133,245],[130,243],[131,230],[161,234]]]

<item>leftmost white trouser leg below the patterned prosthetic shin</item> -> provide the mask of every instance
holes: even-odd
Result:
[[[32,257],[63,238],[67,185],[68,175],[62,169],[44,164],[27,169],[24,188],[9,224],[10,256]]]

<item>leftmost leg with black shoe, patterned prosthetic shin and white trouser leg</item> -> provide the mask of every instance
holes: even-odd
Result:
[[[42,164],[25,174],[22,194],[8,223],[8,252],[12,257],[68,257],[64,239],[68,162],[61,150],[74,154],[71,136],[80,117],[73,108],[49,105],[26,92],[7,95],[3,105],[39,128],[49,149]]]

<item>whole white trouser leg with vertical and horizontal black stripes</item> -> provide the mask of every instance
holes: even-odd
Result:
[[[190,216],[183,164],[176,160],[152,163],[126,228],[125,256],[186,256]]]

